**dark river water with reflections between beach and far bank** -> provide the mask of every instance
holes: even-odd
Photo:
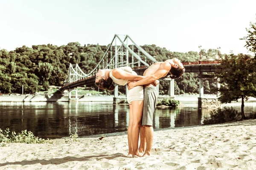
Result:
[[[245,106],[245,113],[256,111],[256,103]],[[232,105],[239,110],[240,105]],[[211,110],[189,107],[157,108],[153,127],[201,125]],[[126,131],[129,106],[97,102],[0,102],[0,128],[11,131],[32,131],[41,138],[60,138]]]

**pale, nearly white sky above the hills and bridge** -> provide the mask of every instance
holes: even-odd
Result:
[[[0,48],[108,45],[128,34],[137,45],[169,51],[217,49],[251,54],[246,28],[256,0],[0,0]]]

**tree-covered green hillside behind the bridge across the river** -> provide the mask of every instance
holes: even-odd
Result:
[[[199,61],[199,53],[171,52],[157,45],[141,46],[157,61],[165,61],[177,57],[181,62]],[[88,73],[99,63],[108,46],[81,45],[79,42],[70,42],[67,45],[32,45],[32,48],[23,46],[14,51],[0,50],[0,91],[2,93],[21,93],[22,85],[25,94],[37,91],[47,91],[49,85],[61,86],[67,77],[70,63],[79,64],[79,67]],[[220,58],[225,55],[220,54]],[[201,61],[218,59],[218,50],[201,50]],[[160,80],[160,94],[168,94],[169,84]],[[92,85],[96,88],[95,85]],[[204,79],[204,93],[213,93],[216,87],[215,79]],[[199,81],[195,73],[185,73],[180,79],[175,79],[175,93],[198,93]],[[121,92],[125,89],[121,88]]]

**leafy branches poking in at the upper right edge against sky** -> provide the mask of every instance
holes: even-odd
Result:
[[[246,45],[244,46],[256,57],[256,23],[250,22],[250,28],[246,28],[246,31],[248,32],[247,36],[240,40],[245,40]]]

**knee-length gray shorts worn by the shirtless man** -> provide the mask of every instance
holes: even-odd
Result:
[[[144,88],[142,125],[153,126],[153,115],[157,105],[157,88]]]

